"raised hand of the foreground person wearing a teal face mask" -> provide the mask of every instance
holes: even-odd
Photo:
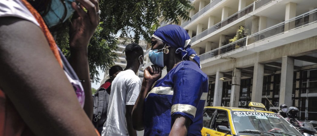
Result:
[[[94,35],[100,19],[98,0],[76,0],[80,3],[72,3],[75,12],[69,26],[70,48],[86,49],[90,38]],[[85,8],[87,13],[83,10]]]

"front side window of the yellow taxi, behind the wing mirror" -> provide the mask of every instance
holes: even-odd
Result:
[[[225,111],[217,110],[215,121],[213,122],[211,129],[216,130],[217,126],[226,126],[229,128],[228,114]]]

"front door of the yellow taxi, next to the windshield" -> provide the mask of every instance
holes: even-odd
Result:
[[[228,112],[217,109],[210,124],[210,129],[205,131],[204,136],[232,136],[231,132],[222,133],[217,131],[217,126],[226,126],[230,130]]]

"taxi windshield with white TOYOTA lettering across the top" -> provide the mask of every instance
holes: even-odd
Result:
[[[231,111],[231,116],[237,135],[246,135],[246,131],[268,132],[275,136],[301,135],[290,123],[275,113]]]

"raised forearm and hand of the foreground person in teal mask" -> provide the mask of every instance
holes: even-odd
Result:
[[[77,0],[89,12],[85,12],[82,7],[72,3],[76,12],[73,15],[69,27],[69,46],[70,59],[69,63],[73,67],[85,91],[84,110],[87,116],[92,119],[93,116],[93,99],[91,97],[91,83],[89,75],[87,45],[99,24],[98,0]]]

